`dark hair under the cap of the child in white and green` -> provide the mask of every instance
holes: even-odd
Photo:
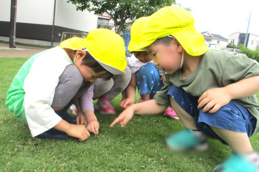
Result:
[[[75,51],[76,52],[76,51]],[[84,65],[92,68],[92,70],[95,73],[99,73],[99,72],[104,72],[102,75],[100,76],[105,76],[107,75],[107,77],[105,77],[106,80],[109,80],[111,77],[113,77],[113,74],[109,71],[107,71],[102,65],[100,65],[100,63],[98,63],[91,55],[89,52],[86,52],[85,57],[83,58],[83,63]]]

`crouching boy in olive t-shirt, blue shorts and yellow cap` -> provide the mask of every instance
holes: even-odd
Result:
[[[214,171],[255,172],[259,156],[249,137],[259,130],[259,64],[244,54],[208,50],[203,36],[193,26],[190,12],[165,7],[146,22],[129,50],[145,48],[154,65],[165,70],[165,87],[154,99],[134,104],[111,124],[125,126],[134,114],[156,114],[170,104],[186,130],[169,135],[173,150],[205,148],[206,136],[233,150]]]

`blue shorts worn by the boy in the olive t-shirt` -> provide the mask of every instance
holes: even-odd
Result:
[[[233,100],[229,104],[222,106],[217,112],[202,112],[203,108],[198,109],[199,97],[188,95],[184,90],[171,85],[168,90],[171,96],[189,115],[195,119],[197,128],[207,136],[218,139],[226,144],[219,136],[217,136],[209,125],[231,130],[239,133],[247,133],[248,137],[252,136],[256,125],[256,118],[244,107],[240,106]]]

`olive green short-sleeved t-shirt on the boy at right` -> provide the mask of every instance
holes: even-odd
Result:
[[[224,87],[254,75],[259,75],[259,64],[244,54],[230,51],[209,50],[200,58],[200,62],[189,76],[181,79],[181,70],[165,74],[165,86],[156,92],[154,99],[158,104],[168,105],[167,92],[171,84],[183,89],[191,96],[200,97],[212,88]],[[259,87],[259,86],[258,86]],[[246,88],[243,88],[246,89]],[[254,133],[259,130],[259,105],[256,96],[233,100],[257,119]]]

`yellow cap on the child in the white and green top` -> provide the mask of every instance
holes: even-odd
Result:
[[[60,42],[60,48],[86,48],[91,56],[114,75],[125,73],[125,46],[122,37],[109,29],[93,29],[86,38],[72,37]]]

